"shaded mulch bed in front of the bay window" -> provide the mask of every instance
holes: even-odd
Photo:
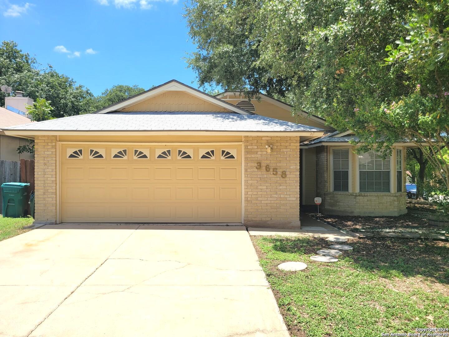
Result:
[[[321,215],[320,220],[337,228],[352,232],[414,233],[420,235],[444,235],[447,228],[429,225],[428,215],[435,213],[433,205],[426,201],[407,201],[408,213],[398,217],[358,217]]]

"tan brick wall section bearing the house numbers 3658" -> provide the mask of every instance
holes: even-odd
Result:
[[[266,145],[273,145],[271,153]],[[245,224],[299,227],[299,137],[245,136],[243,157]],[[272,174],[273,168],[277,175]]]

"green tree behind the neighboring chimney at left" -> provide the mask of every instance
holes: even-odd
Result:
[[[0,46],[0,84],[10,86],[13,91],[23,91],[34,100],[51,101],[54,118],[91,112],[94,103],[89,89],[59,74],[51,65],[40,69],[36,59],[18,49],[14,41],[3,41]],[[0,105],[4,106],[4,98],[1,92]]]

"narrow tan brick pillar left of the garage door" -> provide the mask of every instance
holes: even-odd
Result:
[[[56,222],[56,136],[35,137],[35,221]]]

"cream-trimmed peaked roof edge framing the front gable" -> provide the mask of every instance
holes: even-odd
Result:
[[[221,100],[220,98],[216,98],[215,96],[211,96],[208,93],[204,93],[201,90],[195,89],[187,84],[181,83],[177,80],[170,80],[168,82],[165,82],[161,85],[158,85],[156,87],[153,87],[149,90],[144,91],[143,93],[138,93],[137,95],[131,96],[130,98],[124,99],[123,101],[111,104],[109,106],[106,106],[100,110],[97,110],[94,112],[94,114],[104,114],[112,111],[119,111],[120,109],[123,109],[124,107],[128,107],[131,105],[134,105],[138,102],[141,102],[145,99],[154,97],[160,93],[163,93],[164,91],[185,91],[193,96],[202,98],[208,102],[211,102],[217,106],[224,107],[230,111],[237,112],[242,115],[253,115],[251,111],[247,111],[245,109],[242,109],[238,106],[235,106],[229,102],[225,102]]]

